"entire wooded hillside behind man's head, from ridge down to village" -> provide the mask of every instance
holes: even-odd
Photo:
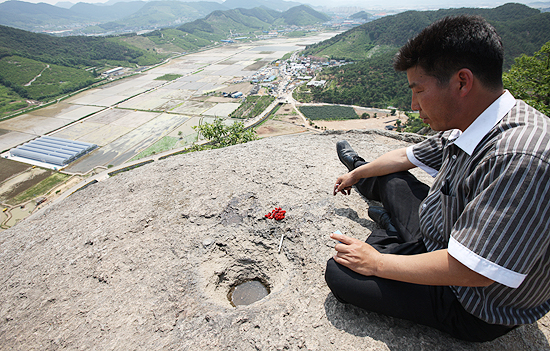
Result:
[[[550,13],[520,4],[494,9],[448,9],[407,11],[387,16],[307,47],[305,55],[352,59],[357,62],[323,70],[318,79],[328,80],[325,88],[313,88],[313,101],[356,104],[385,108],[410,108],[405,73],[392,67],[392,57],[406,41],[430,23],[448,15],[475,14],[486,18],[502,37],[505,69],[522,54],[533,55],[550,41]]]

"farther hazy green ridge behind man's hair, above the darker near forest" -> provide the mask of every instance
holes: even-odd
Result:
[[[461,8],[438,11],[407,11],[365,23],[324,42],[306,48],[306,54],[360,60],[371,50],[400,47],[430,23],[445,16],[480,15],[495,26],[505,47],[505,64],[522,53],[532,54],[550,40],[550,13],[521,4],[506,4],[494,9]]]

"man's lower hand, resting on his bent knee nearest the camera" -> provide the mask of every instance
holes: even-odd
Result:
[[[362,275],[376,275],[382,254],[369,244],[343,234],[332,233],[330,237],[340,243],[334,247],[334,260]]]

